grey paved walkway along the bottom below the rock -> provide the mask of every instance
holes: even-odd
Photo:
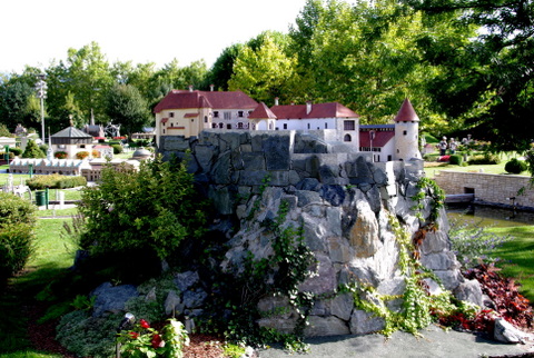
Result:
[[[534,347],[530,345],[506,345],[466,332],[443,329],[431,326],[417,338],[406,332],[395,332],[389,339],[380,335],[317,337],[307,340],[309,352],[303,358],[323,357],[358,357],[358,358],[481,358],[523,356],[534,357]],[[533,355],[528,355],[533,352]],[[260,358],[295,357],[279,348],[259,351]]]

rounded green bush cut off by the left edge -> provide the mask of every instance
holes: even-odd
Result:
[[[0,192],[0,280],[2,284],[20,271],[34,241],[34,207],[12,193]]]

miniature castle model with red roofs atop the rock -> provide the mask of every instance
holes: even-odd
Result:
[[[258,103],[241,91],[172,90],[155,108],[156,146],[161,137],[198,137],[204,130],[298,130],[325,132],[330,142],[353,151],[372,151],[373,161],[422,159],[418,122],[405,99],[393,125],[359,126],[359,116],[337,103],[275,106]]]

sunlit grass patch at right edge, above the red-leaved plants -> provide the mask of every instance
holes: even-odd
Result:
[[[488,228],[500,236],[511,235],[514,239],[495,249],[494,257],[502,261],[497,265],[506,277],[515,278],[521,285],[521,292],[534,302],[534,226],[513,228]]]

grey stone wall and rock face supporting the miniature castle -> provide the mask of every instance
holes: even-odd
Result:
[[[255,259],[273,253],[264,221],[273,220],[287,202],[283,225],[304,228],[317,260],[318,275],[299,287],[316,297],[305,334],[368,334],[384,327],[380,318],[357,309],[350,295],[336,292],[349,282],[372,285],[382,295],[404,291],[388,216],[412,232],[418,229],[411,198],[418,192],[423,161],[373,163],[368,153],[349,152],[343,143],[297,131],[205,131],[198,138],[161,139],[159,152],[166,158],[189,157],[189,170],[214,201],[219,220],[234,220],[219,226],[227,228],[228,238],[222,268],[243,267],[247,252]],[[429,215],[429,205],[426,200],[423,215]],[[444,211],[438,223],[441,230],[428,233],[422,246],[421,261],[446,289],[481,304],[479,287],[464,281],[449,250]],[[290,332],[297,322],[297,312],[288,309],[284,297],[263,297],[258,308],[266,312],[258,321],[263,327]],[[392,301],[392,308],[398,309],[398,301]]]

